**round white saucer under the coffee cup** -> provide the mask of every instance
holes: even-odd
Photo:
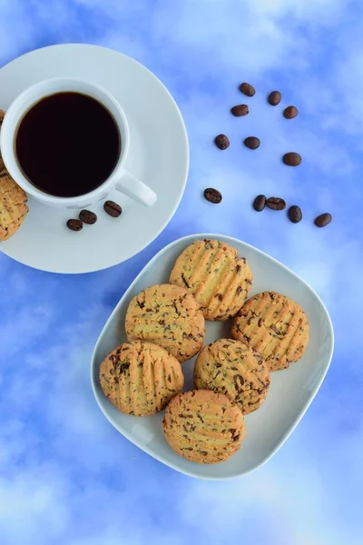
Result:
[[[130,124],[125,167],[152,187],[158,201],[146,208],[114,191],[109,198],[122,205],[121,217],[108,216],[98,203],[92,207],[98,222],[74,233],[65,226],[72,211],[29,199],[25,223],[0,249],[43,271],[99,271],[141,252],[172,219],[188,175],[188,137],[178,106],[155,75],[130,57],[95,45],[53,45],[6,64],[0,70],[0,108],[6,110],[29,85],[56,76],[101,84],[120,101]]]

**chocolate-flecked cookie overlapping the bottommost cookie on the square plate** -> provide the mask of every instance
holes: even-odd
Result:
[[[243,414],[255,411],[265,401],[270,372],[257,352],[240,341],[220,339],[204,346],[194,367],[198,389],[225,393]]]

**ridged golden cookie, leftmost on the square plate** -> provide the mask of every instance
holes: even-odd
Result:
[[[135,416],[162,411],[183,383],[180,362],[152,342],[123,342],[100,366],[104,395],[117,409]]]

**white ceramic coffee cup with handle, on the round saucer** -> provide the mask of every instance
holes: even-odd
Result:
[[[15,154],[15,137],[17,128],[34,104],[39,102],[44,96],[61,92],[75,92],[92,96],[95,100],[103,104],[105,108],[113,115],[121,135],[122,149],[118,162],[113,169],[113,173],[99,187],[77,197],[56,197],[37,189],[27,180],[25,174],[20,169]],[[98,84],[83,81],[76,78],[60,77],[45,80],[25,89],[19,94],[15,101],[6,111],[4,122],[0,134],[1,154],[7,171],[15,179],[15,182],[24,189],[24,191],[45,204],[50,204],[62,208],[83,208],[89,206],[95,201],[105,199],[112,189],[117,189],[134,201],[146,206],[152,206],[156,202],[157,195],[145,183],[137,180],[124,168],[124,163],[129,151],[130,133],[129,126],[123,109],[111,93],[103,89]]]

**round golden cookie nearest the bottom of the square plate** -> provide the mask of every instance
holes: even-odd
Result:
[[[165,439],[187,460],[216,463],[231,458],[245,436],[242,412],[222,393],[185,391],[165,409]]]

